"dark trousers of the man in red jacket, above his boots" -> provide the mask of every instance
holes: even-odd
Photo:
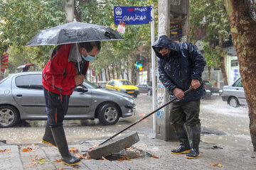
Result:
[[[63,125],[63,120],[68,112],[69,95],[55,94],[43,88],[46,101],[46,113],[50,128]]]

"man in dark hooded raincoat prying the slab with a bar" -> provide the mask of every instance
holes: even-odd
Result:
[[[199,119],[200,100],[206,94],[201,79],[206,60],[196,45],[188,42],[175,42],[161,35],[152,46],[158,57],[159,79],[170,94],[169,120],[174,125],[180,145],[171,150],[172,154],[186,153],[188,159],[196,159],[199,154],[201,123]],[[183,91],[193,87],[184,95]],[[191,145],[188,141],[186,126],[191,130]]]

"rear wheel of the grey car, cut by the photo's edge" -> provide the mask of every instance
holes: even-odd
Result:
[[[0,106],[0,127],[10,128],[19,122],[18,111],[13,106]]]

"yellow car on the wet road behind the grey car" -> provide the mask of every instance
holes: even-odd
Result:
[[[126,94],[134,96],[135,98],[139,95],[139,89],[137,86],[134,86],[131,81],[127,79],[113,79],[110,80],[107,85],[107,89],[113,89],[116,91],[122,91]]]

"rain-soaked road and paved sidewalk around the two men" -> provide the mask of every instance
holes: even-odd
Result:
[[[114,135],[119,130],[150,113],[151,96],[139,95],[136,114],[122,118],[116,125],[102,126],[98,120],[65,120],[64,127],[69,147],[79,149],[86,156],[86,151],[93,145]],[[124,133],[138,132],[140,142],[135,144],[129,154],[117,153],[107,160],[82,159],[82,164],[70,168],[54,162],[60,159],[58,150],[41,143],[46,121],[28,121],[31,127],[1,128],[0,140],[7,145],[0,150],[0,167],[4,169],[255,169],[255,153],[252,155],[250,141],[249,118],[247,107],[232,108],[220,98],[201,100],[201,157],[188,160],[184,155],[170,154],[170,150],[178,146],[178,142],[156,140],[152,130],[152,116],[134,125]],[[21,152],[21,149],[33,147],[34,152]],[[139,154],[139,153],[142,154]],[[14,154],[16,156],[14,156]],[[31,159],[43,157],[47,164],[27,167]],[[125,157],[126,156],[126,157]],[[135,157],[136,156],[136,157]],[[13,159],[18,159],[14,162]],[[131,160],[127,160],[132,158]],[[15,166],[16,164],[16,166]],[[1,168],[0,168],[1,169]]]

